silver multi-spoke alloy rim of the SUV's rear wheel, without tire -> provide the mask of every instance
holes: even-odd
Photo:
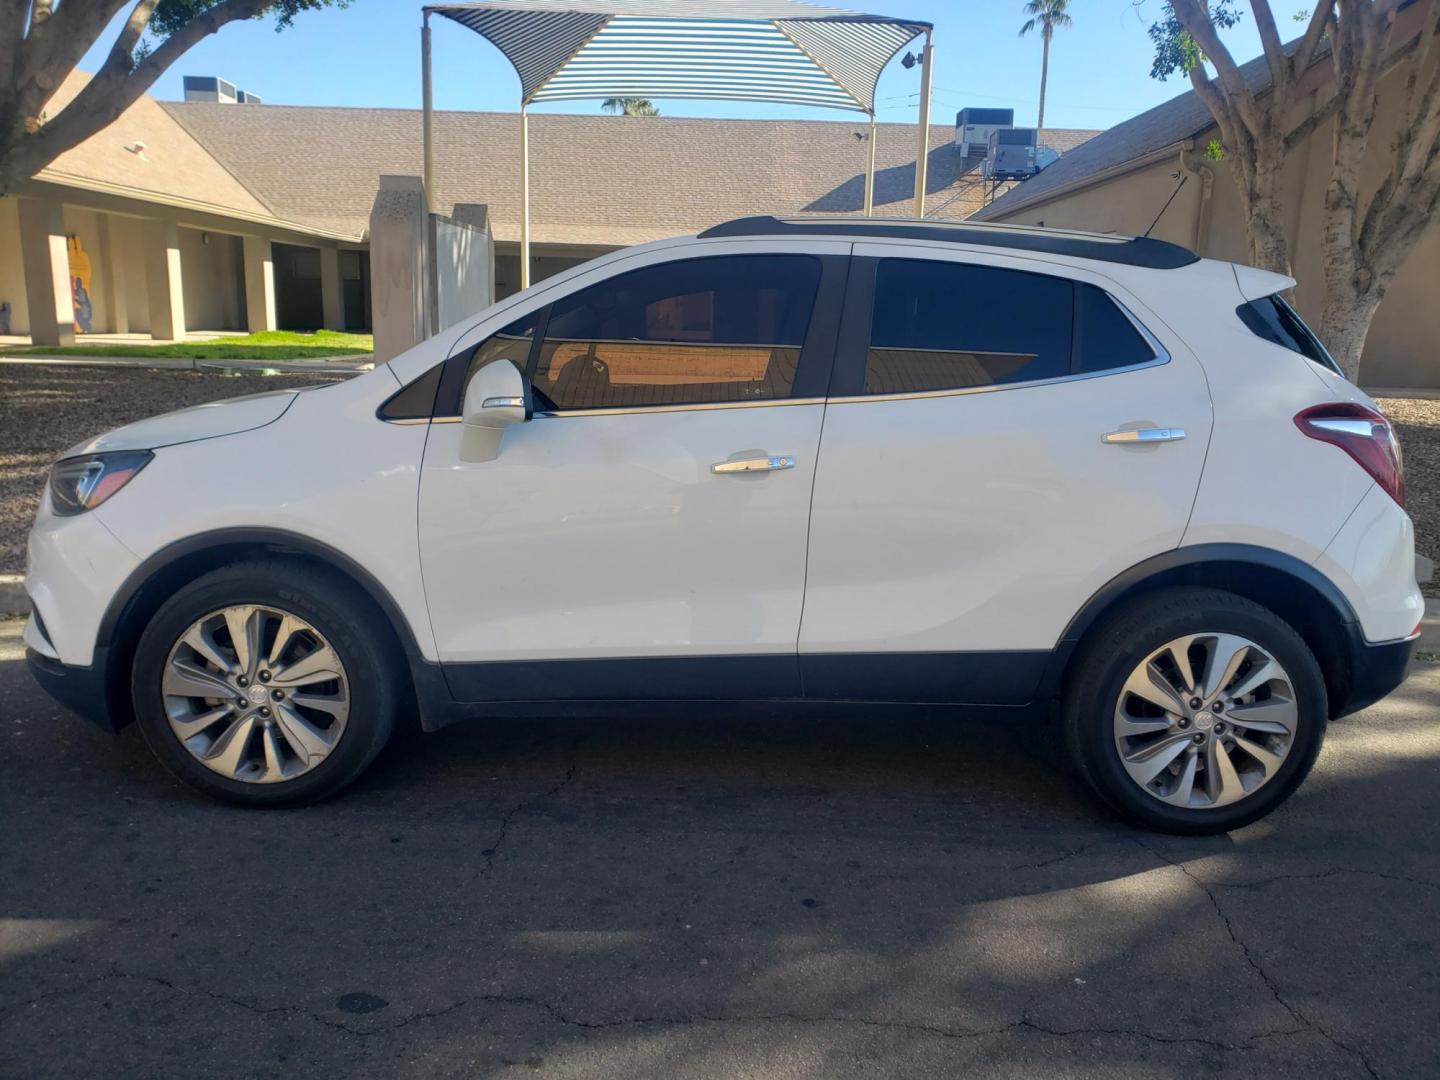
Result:
[[[1297,723],[1293,683],[1273,655],[1236,634],[1191,634],[1130,672],[1115,706],[1115,744],[1148,795],[1210,809],[1274,779]]]

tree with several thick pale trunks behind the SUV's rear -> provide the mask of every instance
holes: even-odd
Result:
[[[1266,0],[1251,0],[1266,79],[1247,81],[1218,29],[1234,24],[1236,0],[1169,0],[1151,27],[1153,75],[1184,71],[1215,125],[1246,213],[1257,266],[1290,274],[1282,194],[1287,156],[1332,124],[1320,223],[1325,298],[1319,334],[1345,373],[1359,372],[1365,336],[1385,289],[1440,209],[1440,0],[1417,0],[1417,29],[1392,40],[1400,0],[1320,0],[1305,33],[1280,40]],[[1218,29],[1217,29],[1218,27]],[[1302,78],[1325,60],[1333,84],[1319,95]],[[1210,73],[1207,65],[1214,69]],[[1375,134],[1381,81],[1398,105],[1388,143]],[[1382,164],[1362,184],[1361,166]]]

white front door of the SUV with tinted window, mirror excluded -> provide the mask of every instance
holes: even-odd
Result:
[[[649,252],[452,357],[441,413],[495,359],[536,409],[494,461],[462,461],[464,425],[431,428],[420,557],[456,698],[799,694],[848,246]]]

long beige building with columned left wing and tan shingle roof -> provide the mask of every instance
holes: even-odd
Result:
[[[518,281],[517,125],[436,115],[432,209],[488,206],[498,297]],[[537,114],[530,132],[534,279],[730,217],[861,210],[865,122]],[[1041,141],[1068,151],[1094,134]],[[877,213],[910,213],[913,147],[913,127],[878,127]],[[933,127],[926,212],[976,210],[979,163]],[[36,344],[71,343],[76,295],[95,333],[369,330],[379,177],[419,173],[418,111],[144,98],[0,197],[0,304]]]

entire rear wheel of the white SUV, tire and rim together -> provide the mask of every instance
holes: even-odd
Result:
[[[1102,621],[1064,700],[1071,757],[1130,821],[1166,832],[1238,828],[1309,773],[1325,680],[1277,615],[1214,589],[1165,589]]]

